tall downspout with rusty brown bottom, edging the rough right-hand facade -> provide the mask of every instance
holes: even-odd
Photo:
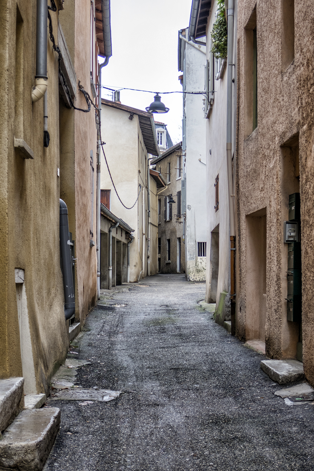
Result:
[[[227,173],[229,193],[230,221],[230,299],[231,299],[231,333],[235,335],[235,223],[234,223],[234,191],[232,172],[232,95],[233,95],[233,19],[234,0],[228,2],[228,74],[227,74]]]

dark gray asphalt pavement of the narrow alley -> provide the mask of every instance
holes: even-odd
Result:
[[[45,471],[312,470],[313,403],[287,406],[265,357],[201,308],[205,283],[146,277],[102,291],[68,359],[110,402],[48,398],[61,430]],[[71,353],[72,352],[72,353]]]

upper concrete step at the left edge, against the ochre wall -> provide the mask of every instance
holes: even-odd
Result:
[[[19,413],[23,385],[24,378],[0,380],[0,433],[8,427]]]

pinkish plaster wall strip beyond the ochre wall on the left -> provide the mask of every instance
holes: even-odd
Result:
[[[75,72],[84,89],[93,97],[90,88],[90,3],[75,0]],[[94,58],[95,60],[95,58]],[[96,77],[94,77],[96,80]],[[94,99],[94,103],[96,100]],[[77,91],[76,106],[86,109],[83,94]],[[78,304],[81,322],[97,301],[96,253],[96,179],[97,179],[97,129],[95,111],[75,111],[75,233]],[[92,159],[91,162],[91,153]],[[94,171],[91,167],[93,165]],[[94,190],[93,190],[94,188]],[[92,196],[93,190],[93,196]],[[93,204],[92,204],[93,200]],[[93,225],[91,226],[91,224]],[[92,234],[90,234],[90,231]],[[95,245],[90,247],[93,239]]]

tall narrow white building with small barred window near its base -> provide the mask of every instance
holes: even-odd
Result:
[[[206,48],[188,41],[187,32],[187,28],[179,31],[178,70],[183,73],[180,81],[184,92],[203,91]],[[195,281],[205,280],[206,275],[207,165],[206,120],[203,110],[203,94],[183,94],[182,213],[185,213],[185,273],[188,280]]]

